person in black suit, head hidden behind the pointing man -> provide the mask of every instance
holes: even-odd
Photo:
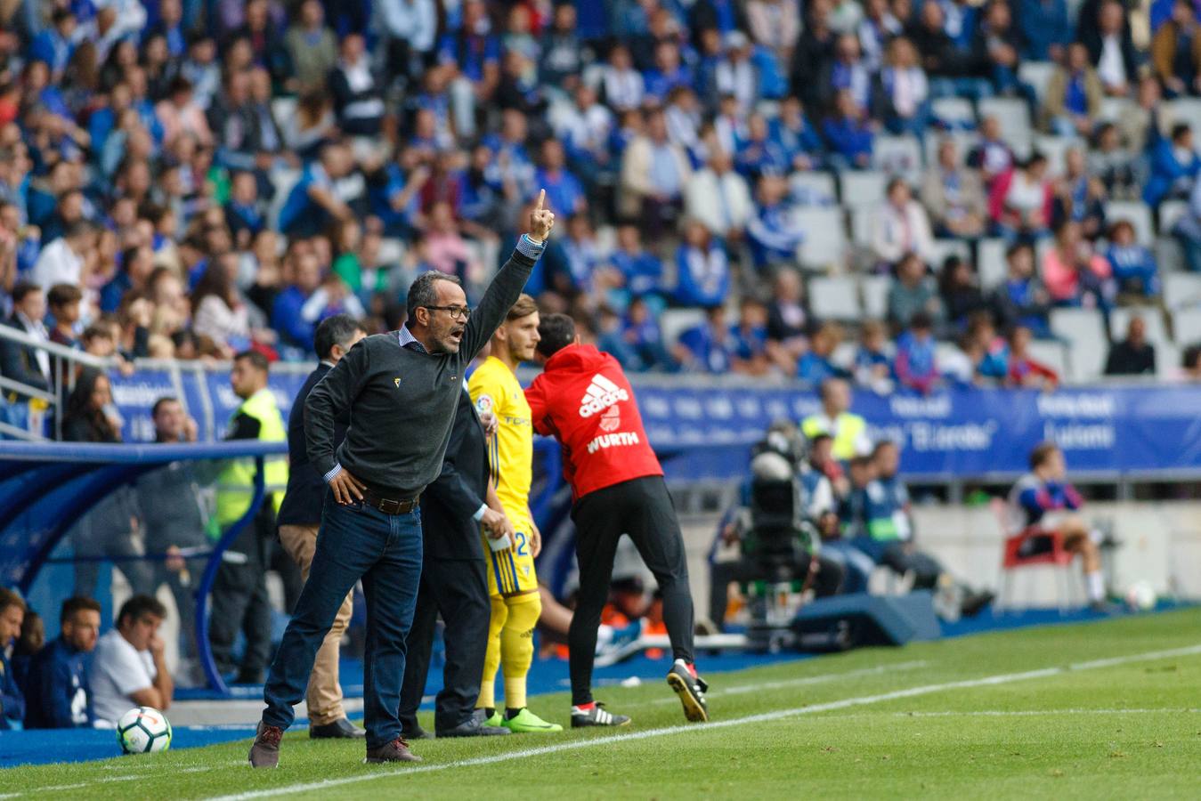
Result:
[[[498,512],[500,502],[489,485],[486,449],[488,438],[471,396],[461,391],[442,474],[422,496],[425,555],[400,692],[400,722],[406,737],[428,736],[417,723],[417,707],[425,693],[440,612],[446,623],[446,668],[435,730],[440,737],[509,733],[503,727],[483,725],[476,716],[491,617],[479,527],[500,526],[513,537],[513,526]]]

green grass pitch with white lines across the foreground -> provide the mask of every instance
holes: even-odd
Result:
[[[420,766],[362,745],[249,743],[0,771],[0,799],[1196,799],[1201,610],[872,648],[712,674],[711,724],[659,682],[598,698],[633,724],[424,741]],[[567,698],[533,709],[563,723]],[[426,721],[428,723],[428,721]]]

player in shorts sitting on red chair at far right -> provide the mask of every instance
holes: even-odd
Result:
[[[1064,550],[1080,554],[1088,585],[1088,604],[1106,611],[1101,554],[1088,524],[1076,514],[1085,501],[1066,480],[1068,465],[1053,442],[1041,442],[1030,452],[1030,472],[1009,492],[1010,537],[1023,534],[1022,556],[1045,554],[1053,538],[1063,539]]]

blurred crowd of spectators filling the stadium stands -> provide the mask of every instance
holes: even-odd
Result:
[[[544,186],[566,235],[528,289],[628,369],[1046,385],[1053,309],[1160,313],[1164,250],[1115,202],[1201,265],[1163,102],[1201,90],[1196,28],[1187,0],[5,2],[5,316],[100,355],[311,358],[328,316],[395,329],[426,268],[478,298]],[[833,311],[809,268],[884,303]],[[47,384],[31,357],[4,375]]]

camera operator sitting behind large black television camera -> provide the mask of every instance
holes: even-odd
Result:
[[[731,581],[801,580],[818,598],[836,594],[843,570],[818,551],[823,525],[831,518],[833,495],[829,483],[808,492],[797,473],[800,436],[790,423],[777,423],[754,449],[751,477],[742,484],[740,503],[727,512],[713,544],[741,545],[737,560],[710,561],[709,615],[717,629],[725,623]]]

